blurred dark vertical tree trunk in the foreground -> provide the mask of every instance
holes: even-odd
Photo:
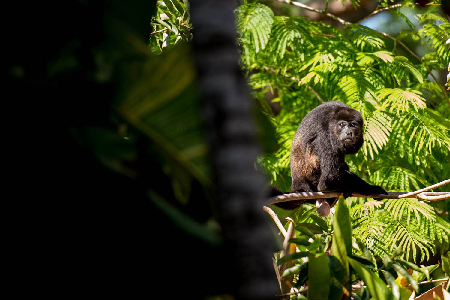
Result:
[[[274,243],[263,216],[263,178],[253,101],[238,65],[233,1],[191,0],[193,45],[204,118],[216,174],[220,223],[232,262],[237,299],[279,293],[272,266]]]

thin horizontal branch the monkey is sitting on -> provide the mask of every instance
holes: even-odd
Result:
[[[308,200],[308,199],[322,199],[322,198],[336,198],[339,197],[342,193],[340,192],[305,192],[305,193],[290,193],[284,195],[278,195],[275,197],[271,197],[267,200],[267,205],[275,204],[279,202],[285,201],[293,201],[293,200]],[[409,194],[409,193],[407,193]],[[390,192],[387,195],[379,194],[379,195],[363,195],[360,193],[352,193],[351,197],[363,197],[363,198],[380,198],[380,199],[403,199],[403,198],[417,198],[421,200],[428,201],[437,201],[450,199],[450,191],[449,192],[423,192],[417,195],[403,196],[406,195],[405,192]],[[403,196],[403,197],[401,197]],[[423,199],[422,197],[425,196]]]

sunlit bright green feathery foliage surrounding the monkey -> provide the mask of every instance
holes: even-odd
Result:
[[[326,100],[361,112],[364,144],[346,159],[351,171],[367,182],[389,191],[412,191],[450,177],[448,95],[428,72],[446,68],[450,60],[445,45],[450,23],[438,8],[429,6],[417,14],[417,26],[402,9],[394,10],[410,25],[393,38],[394,45],[383,32],[360,24],[335,28],[302,16],[276,16],[261,3],[236,9],[241,66],[255,93],[275,95],[261,107],[279,148],[258,159],[272,184],[290,191],[293,136],[302,118]],[[398,51],[410,37],[430,48],[419,61]],[[267,104],[279,105],[279,113]],[[421,261],[436,254],[436,243],[449,241],[448,217],[429,204],[356,199],[352,205],[354,234],[374,255],[400,247],[403,258]],[[449,209],[448,203],[440,206]]]

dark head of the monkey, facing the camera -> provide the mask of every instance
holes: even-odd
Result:
[[[355,154],[363,144],[363,118],[355,109],[340,107],[333,114],[335,146],[341,154]]]

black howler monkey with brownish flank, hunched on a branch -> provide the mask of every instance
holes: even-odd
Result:
[[[363,144],[363,118],[350,106],[325,102],[303,119],[295,133],[291,148],[292,192],[340,191],[344,197],[358,192],[363,195],[386,194],[379,186],[369,185],[351,173],[345,155],[356,154]],[[329,206],[337,198],[327,198]],[[294,209],[312,200],[277,203]]]

